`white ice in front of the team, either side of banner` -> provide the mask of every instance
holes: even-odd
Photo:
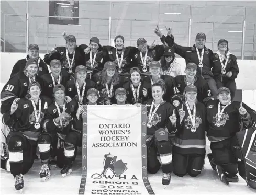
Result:
[[[24,175],[23,194],[78,194],[81,181],[81,152],[73,164],[73,173],[65,178],[61,177],[60,168],[51,167],[51,177],[48,181],[43,182],[39,178],[41,169],[40,159],[35,161],[34,166]],[[9,172],[1,169],[0,172],[1,193],[0,194],[20,194],[14,188],[14,178]],[[177,177],[171,176],[171,183],[166,189],[162,185],[162,171],[157,174],[149,174],[149,181],[155,194],[256,194],[256,190],[248,188],[244,179],[239,176],[238,183],[225,185],[222,183],[215,171],[212,170],[208,159],[205,158],[205,169],[201,175],[192,178],[188,175]],[[100,194],[100,193],[99,193]],[[85,194],[89,195],[89,194]]]

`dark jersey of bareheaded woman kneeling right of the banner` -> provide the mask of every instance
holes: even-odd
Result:
[[[149,122],[149,112],[151,108],[153,99],[149,99],[147,101],[147,122]],[[153,106],[152,114],[155,109],[155,106]],[[160,128],[167,128],[169,133],[175,132],[176,128],[173,127],[169,117],[172,116],[174,106],[172,106],[169,102],[163,101],[160,106],[158,107],[157,112],[155,112],[151,123],[152,127],[147,127],[147,135],[154,135],[155,131],[159,130]]]

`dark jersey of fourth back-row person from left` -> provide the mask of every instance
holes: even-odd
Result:
[[[117,52],[117,56],[116,56],[116,48],[112,46],[103,46],[103,49],[106,50],[106,52],[108,53],[109,61],[114,62],[116,65],[116,70],[118,70],[117,56],[120,62],[122,53]],[[135,53],[138,52],[138,48],[131,47],[131,46],[124,47],[122,52],[124,52],[124,55],[123,55],[123,61],[121,64],[121,68],[123,69],[123,72],[121,74],[130,73],[130,69],[132,67],[132,58],[135,55]]]

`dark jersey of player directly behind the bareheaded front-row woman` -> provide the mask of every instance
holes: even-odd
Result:
[[[175,94],[176,82],[175,82],[175,80],[172,76],[160,75],[160,78],[163,79],[163,81],[165,82],[165,85],[166,85],[166,94],[164,94],[163,100],[165,100],[169,103],[172,103],[171,97],[174,96],[174,94]],[[144,81],[147,81],[152,85],[151,79],[152,79],[151,76],[146,76],[144,78]],[[151,90],[150,90],[150,93],[149,93],[149,98],[152,98]]]

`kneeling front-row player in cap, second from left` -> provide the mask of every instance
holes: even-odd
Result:
[[[69,133],[72,120],[71,114],[74,112],[73,101],[66,103],[64,101],[65,88],[58,84],[53,88],[54,102],[48,108],[48,116],[44,120],[44,132],[38,139],[38,147],[42,168],[39,176],[43,181],[47,180],[50,174],[49,158],[50,147],[53,148],[55,156],[57,156],[57,166],[64,166],[64,141],[65,136]]]

